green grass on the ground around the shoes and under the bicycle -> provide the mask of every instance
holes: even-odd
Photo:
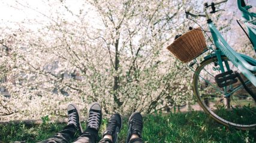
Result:
[[[119,142],[125,142],[127,120],[124,119]],[[144,142],[256,142],[255,131],[227,129],[203,112],[151,114],[143,117],[143,122]],[[107,119],[103,119],[99,135],[106,124]],[[0,125],[0,142],[37,142],[49,138],[64,126],[48,122],[41,125]],[[82,126],[85,129],[85,123]]]

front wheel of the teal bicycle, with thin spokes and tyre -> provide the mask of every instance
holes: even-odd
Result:
[[[246,79],[227,57],[222,57],[225,71],[237,71],[246,86],[255,94],[256,87]],[[197,67],[193,77],[193,90],[198,103],[214,120],[237,129],[256,128],[256,102],[239,81],[219,88],[215,76],[220,74],[216,57],[204,60]]]

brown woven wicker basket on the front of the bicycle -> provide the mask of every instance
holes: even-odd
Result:
[[[200,28],[192,29],[167,47],[180,61],[187,63],[206,49],[206,41]]]

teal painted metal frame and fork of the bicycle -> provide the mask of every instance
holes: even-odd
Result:
[[[241,0],[237,0],[237,2],[241,3]],[[242,7],[241,4],[240,4],[240,7]],[[241,73],[243,73],[243,75],[245,77],[247,77],[248,80],[245,82],[245,84],[247,85],[251,82],[254,86],[256,86],[256,77],[252,73],[253,71],[256,71],[256,66],[252,66],[252,65],[256,65],[256,60],[247,55],[237,53],[236,51],[234,51],[233,48],[231,48],[230,45],[228,45],[228,43],[222,37],[221,33],[219,33],[219,31],[216,29],[216,27],[213,24],[212,20],[210,19],[206,9],[207,9],[207,7],[204,7],[204,13],[206,15],[203,15],[203,16],[207,18],[207,23],[209,24],[209,29],[210,29],[210,32],[212,33],[212,38],[215,43],[216,49],[213,50],[214,52],[212,54],[204,57],[204,59],[217,57],[218,64],[219,64],[218,70],[220,70],[221,73],[224,73],[225,68],[226,68],[226,71],[230,70],[230,66],[228,65],[228,62],[224,61],[224,63],[223,63],[223,61],[222,61],[221,56],[225,55],[231,61],[231,63],[233,63],[233,65],[236,66],[237,69],[240,70]],[[191,14],[191,15],[195,15],[195,14]],[[252,21],[252,20],[254,20],[255,14],[249,13],[248,11],[243,12],[243,17],[248,18],[248,20]],[[249,25],[246,25],[246,27],[248,27],[248,32],[249,32],[250,38],[252,39],[252,41],[255,42],[255,45],[256,45],[256,30]],[[254,46],[254,49],[255,48],[256,48],[256,46]],[[225,64],[225,66],[224,66],[224,64]],[[235,89],[233,89],[233,92],[239,90],[242,87],[243,87],[242,85],[236,87]],[[228,93],[227,87],[224,87],[225,97],[228,97],[231,94],[232,94],[232,92]]]

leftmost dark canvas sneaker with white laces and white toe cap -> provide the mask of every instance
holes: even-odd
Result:
[[[76,104],[68,105],[68,125],[74,125],[79,129],[79,133],[83,132],[81,123],[80,123],[80,111],[77,108]]]

